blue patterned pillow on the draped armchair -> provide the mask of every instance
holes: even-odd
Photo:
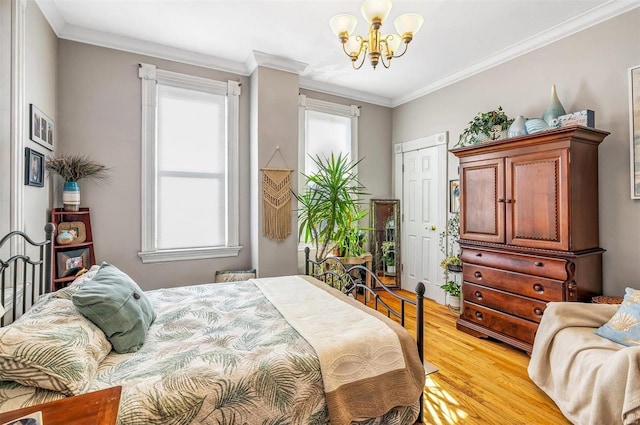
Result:
[[[595,333],[618,344],[633,347],[640,345],[640,290],[627,288],[625,292],[616,314]]]

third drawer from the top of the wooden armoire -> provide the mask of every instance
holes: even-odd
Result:
[[[545,301],[533,300],[469,282],[464,283],[462,292],[465,301],[500,310],[537,323],[540,322],[542,313],[547,307]]]

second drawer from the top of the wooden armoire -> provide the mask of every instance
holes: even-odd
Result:
[[[462,277],[466,282],[512,292],[542,301],[564,301],[564,282],[506,270],[464,263]]]

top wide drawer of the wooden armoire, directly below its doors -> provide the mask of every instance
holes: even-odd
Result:
[[[464,263],[479,264],[502,270],[513,270],[549,279],[567,280],[567,260],[535,255],[494,252],[482,249],[464,248]]]

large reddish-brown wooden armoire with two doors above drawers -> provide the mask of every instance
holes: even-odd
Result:
[[[573,126],[451,150],[460,159],[457,328],[531,352],[549,301],[602,293],[598,145]]]

